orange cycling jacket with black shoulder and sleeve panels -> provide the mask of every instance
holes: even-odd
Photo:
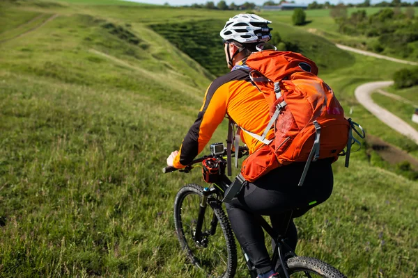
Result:
[[[247,68],[240,67],[215,79],[206,91],[197,120],[187,132],[173,166],[183,168],[192,162],[208,144],[226,114],[242,129],[261,135],[270,121],[268,111],[268,103],[252,85]],[[263,145],[245,132],[241,131],[240,135],[250,154]],[[270,131],[267,138],[273,136]]]

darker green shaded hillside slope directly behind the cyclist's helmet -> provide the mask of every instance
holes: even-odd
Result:
[[[222,19],[152,24],[150,27],[206,67],[213,75],[220,76],[229,72],[226,67],[222,39],[219,36],[219,30],[224,27]],[[278,31],[281,40],[290,45],[293,51],[300,52],[314,60],[321,72],[332,72],[338,68],[353,65],[354,58],[351,54],[338,49],[323,38],[285,24],[276,23],[272,24],[272,27],[273,36]]]

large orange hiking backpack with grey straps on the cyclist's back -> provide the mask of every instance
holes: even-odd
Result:
[[[307,162],[299,183],[302,186],[311,161],[336,161],[346,154],[346,146],[348,167],[354,125],[344,117],[330,86],[316,75],[315,63],[294,52],[269,50],[251,54],[246,65],[251,81],[268,101],[271,119],[262,135],[240,128],[265,144],[242,163],[242,176],[255,181],[281,165]],[[272,128],[274,138],[267,140]],[[357,134],[364,136],[364,131]]]

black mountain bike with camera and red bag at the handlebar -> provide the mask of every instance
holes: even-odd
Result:
[[[211,154],[192,161],[181,172],[190,172],[197,163],[206,168],[203,178],[211,183],[208,188],[191,183],[180,188],[174,201],[174,222],[180,246],[207,277],[233,278],[237,268],[237,248],[229,219],[222,209],[222,199],[231,180],[226,176],[226,148],[222,143],[210,145]],[[238,158],[248,154],[247,147],[239,147]],[[207,168],[210,167],[208,170]],[[165,167],[164,173],[176,171]],[[216,171],[215,171],[216,170]],[[207,208],[211,209],[207,209]],[[261,216],[256,215],[263,229],[274,240],[273,265],[279,263],[281,277],[346,278],[339,270],[323,261],[306,256],[297,256],[286,244],[284,236],[291,222],[293,211],[286,213],[283,229],[277,233]],[[217,226],[222,233],[217,232]],[[257,278],[256,269],[244,250],[245,261],[251,278]]]

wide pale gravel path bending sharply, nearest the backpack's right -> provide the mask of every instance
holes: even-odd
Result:
[[[380,81],[359,85],[359,87],[357,87],[354,92],[355,98],[357,101],[359,101],[360,104],[362,104],[362,106],[364,106],[364,108],[375,115],[379,120],[390,126],[392,129],[398,131],[399,133],[408,136],[411,140],[414,140],[418,144],[417,130],[401,120],[401,118],[378,106],[371,99],[372,92],[375,92],[380,88],[385,88],[389,85],[393,85],[393,83],[394,81]]]

